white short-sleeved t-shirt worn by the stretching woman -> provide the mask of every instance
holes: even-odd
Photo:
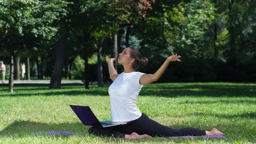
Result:
[[[111,121],[133,121],[141,117],[137,98],[143,85],[139,80],[142,72],[122,72],[108,88],[110,95]]]

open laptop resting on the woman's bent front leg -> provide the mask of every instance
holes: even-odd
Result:
[[[112,127],[116,125],[127,124],[126,122],[112,122],[112,121],[98,121],[98,118],[93,114],[91,108],[89,106],[79,106],[79,105],[69,105],[72,110],[75,112],[75,115],[80,119],[82,124],[84,125],[102,125],[105,127]]]

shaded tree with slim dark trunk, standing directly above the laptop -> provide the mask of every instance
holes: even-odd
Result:
[[[89,64],[88,57],[95,52],[95,45],[97,39],[102,39],[106,34],[106,28],[109,27],[109,23],[112,23],[108,19],[107,9],[108,0],[87,0],[87,1],[75,1],[71,8],[70,13],[73,23],[72,33],[79,40],[81,47],[78,47],[79,53],[81,53],[85,60],[85,88],[89,88]],[[111,16],[109,16],[111,17]],[[110,29],[112,29],[110,27]],[[99,46],[99,45],[98,45]]]

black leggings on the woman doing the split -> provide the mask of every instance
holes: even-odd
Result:
[[[114,136],[114,137],[125,137],[125,134],[131,134],[136,132],[137,134],[148,134],[152,137],[172,137],[172,136],[200,136],[205,135],[205,131],[197,128],[181,128],[173,129],[158,122],[151,120],[147,115],[142,113],[141,117],[130,121],[124,125],[118,125],[113,127],[103,128],[101,125],[93,126],[89,129],[90,134],[101,135],[101,136]]]

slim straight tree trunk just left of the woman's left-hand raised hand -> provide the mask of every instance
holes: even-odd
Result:
[[[98,62],[97,62],[98,87],[103,86],[102,43],[103,43],[103,38],[99,38],[98,39]]]

